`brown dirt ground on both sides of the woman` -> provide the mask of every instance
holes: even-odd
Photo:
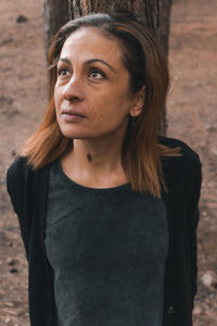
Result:
[[[28,326],[27,265],[5,172],[47,105],[42,1],[1,0],[0,17],[0,325]],[[175,0],[168,136],[187,141],[203,163],[194,326],[217,325],[216,53],[217,1]]]

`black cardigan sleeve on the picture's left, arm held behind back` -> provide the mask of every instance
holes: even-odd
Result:
[[[7,188],[17,215],[21,235],[28,259],[28,236],[25,218],[25,159],[16,158],[7,172]]]

